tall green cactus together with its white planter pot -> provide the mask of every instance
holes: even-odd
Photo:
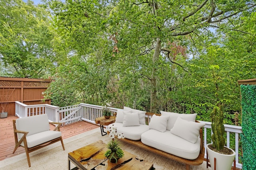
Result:
[[[206,145],[206,151],[209,156],[211,168],[213,170],[230,170],[232,162],[236,156],[234,150],[225,147],[225,128],[223,125],[224,119],[223,104],[214,107],[211,113],[212,119],[212,143]],[[208,159],[208,158],[207,158]],[[208,162],[207,167],[208,167]],[[215,166],[216,165],[216,166]],[[215,166],[215,167],[214,167]]]

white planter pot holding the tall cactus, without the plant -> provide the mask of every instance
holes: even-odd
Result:
[[[212,145],[211,143],[206,145],[206,150],[208,153],[208,157],[210,160],[211,168],[214,170],[214,158],[216,158],[216,170],[231,170],[232,163],[234,162],[234,158],[236,153],[232,150],[233,154],[220,154],[218,152],[214,152],[213,150],[209,149],[208,145]]]

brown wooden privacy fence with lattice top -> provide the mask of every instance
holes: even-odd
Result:
[[[49,86],[50,79],[0,77],[0,102],[6,104],[8,116],[15,115],[15,101],[26,105],[50,104],[50,99],[41,102],[42,92]],[[2,112],[2,108],[0,108]]]

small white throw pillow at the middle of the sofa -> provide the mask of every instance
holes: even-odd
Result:
[[[167,120],[170,116],[153,115],[149,122],[149,129],[155,129],[160,132],[166,131]]]

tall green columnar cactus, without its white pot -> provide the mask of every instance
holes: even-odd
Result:
[[[212,147],[217,150],[224,149],[225,145],[225,128],[223,125],[224,119],[224,106],[220,105],[220,108],[214,107],[211,117],[212,117]]]

